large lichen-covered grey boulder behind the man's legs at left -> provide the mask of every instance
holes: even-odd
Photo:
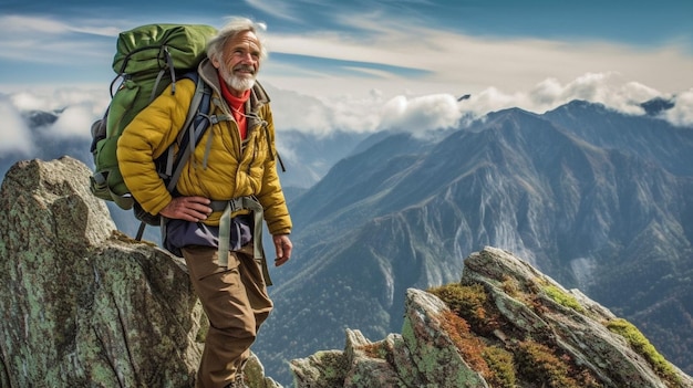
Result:
[[[65,157],[0,190],[0,387],[193,387],[206,318],[184,263],[115,231]],[[257,358],[254,388],[278,385]]]

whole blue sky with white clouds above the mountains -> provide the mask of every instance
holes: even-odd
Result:
[[[64,109],[41,136],[90,136],[118,32],[232,15],[267,24],[277,130],[425,135],[576,98],[637,115],[654,97],[693,126],[691,0],[0,0],[0,156],[31,156],[30,109]]]

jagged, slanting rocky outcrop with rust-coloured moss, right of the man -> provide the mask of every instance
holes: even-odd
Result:
[[[693,387],[634,326],[494,248],[465,260],[458,284],[410,289],[402,334],[348,329],[343,352],[291,369],[311,388]]]

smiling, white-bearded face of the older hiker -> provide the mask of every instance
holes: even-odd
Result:
[[[226,81],[231,93],[241,95],[255,85],[260,69],[260,43],[251,31],[228,39],[221,57],[211,61]]]

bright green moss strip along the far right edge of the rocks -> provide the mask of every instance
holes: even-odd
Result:
[[[662,356],[652,344],[645,338],[645,336],[640,333],[640,331],[630,322],[617,318],[607,324],[607,328],[612,333],[621,335],[628,344],[633,348],[633,350],[638,352],[642,355],[649,363],[652,365],[652,369],[665,379],[671,382],[674,387],[681,387],[682,382],[674,368],[669,364],[669,361]]]

